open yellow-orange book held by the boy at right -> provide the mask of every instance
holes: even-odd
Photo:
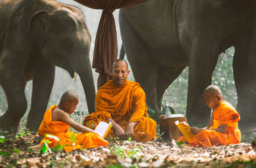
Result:
[[[185,139],[191,143],[194,140],[195,134],[192,134],[190,131],[190,126],[187,122],[180,122],[179,120],[175,121],[175,125],[179,128],[180,132],[184,135]]]

